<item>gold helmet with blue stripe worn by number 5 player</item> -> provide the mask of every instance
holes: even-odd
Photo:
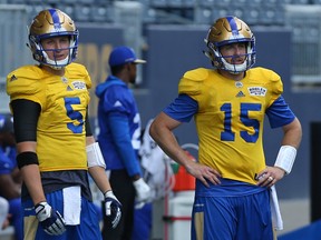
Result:
[[[61,36],[70,38],[69,56],[64,60],[51,60],[45,52],[41,40]],[[29,28],[29,48],[36,61],[52,69],[61,69],[76,59],[78,37],[79,32],[68,14],[58,9],[47,9],[40,11],[31,22]],[[57,49],[49,51],[57,51]]]

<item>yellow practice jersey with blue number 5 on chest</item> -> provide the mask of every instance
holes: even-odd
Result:
[[[41,107],[37,126],[40,171],[87,169],[85,118],[91,87],[86,68],[66,67],[64,77],[38,66],[25,66],[7,77],[10,100],[27,99]]]

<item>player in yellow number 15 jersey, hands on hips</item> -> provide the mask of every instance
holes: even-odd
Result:
[[[205,42],[204,53],[214,69],[185,72],[178,97],[157,116],[149,132],[197,179],[192,239],[271,240],[270,190],[291,172],[301,124],[282,97],[280,76],[252,68],[255,38],[244,21],[232,16],[217,19]],[[284,133],[274,166],[266,166],[263,152],[265,114],[271,127]],[[172,133],[192,118],[200,139],[198,162],[188,160]]]

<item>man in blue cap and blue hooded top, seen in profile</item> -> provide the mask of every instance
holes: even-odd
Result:
[[[142,178],[138,159],[140,148],[140,118],[129,83],[134,84],[138,59],[132,48],[117,47],[109,56],[111,74],[96,88],[98,103],[98,143],[110,184],[123,206],[123,218],[117,228],[104,223],[103,238],[130,240],[134,226],[135,199],[145,203],[150,199],[150,188]]]

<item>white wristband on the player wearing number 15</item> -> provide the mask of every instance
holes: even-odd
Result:
[[[283,169],[285,173],[289,174],[292,170],[295,157],[296,157],[296,149],[294,147],[282,146],[279,150],[274,166]]]

